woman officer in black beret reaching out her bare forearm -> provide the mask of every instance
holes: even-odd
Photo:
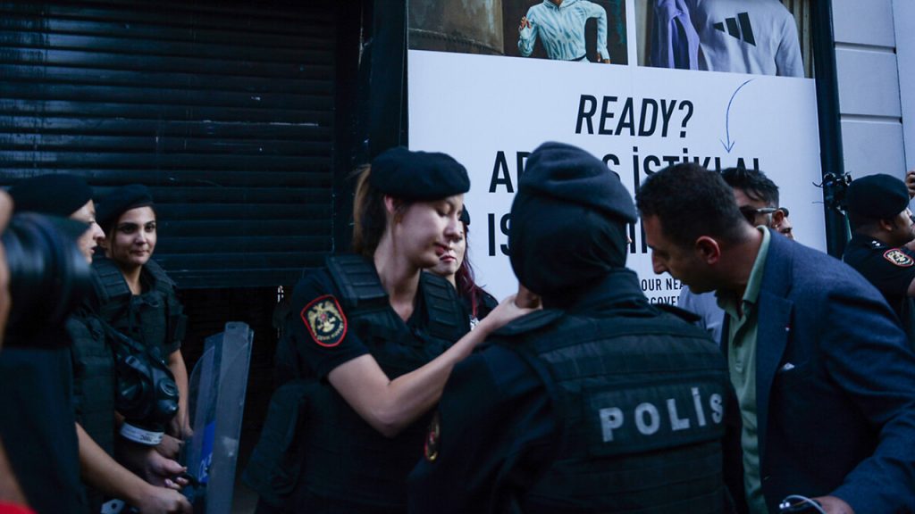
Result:
[[[297,432],[304,460],[287,498],[259,489],[260,512],[406,510],[405,478],[423,455],[421,418],[448,373],[526,312],[508,299],[468,333],[454,287],[421,273],[460,238],[469,186],[450,156],[404,148],[361,171],[353,211],[359,255],[329,257],[293,295],[290,337],[281,345],[294,345],[297,362],[278,366],[297,366],[299,381],[312,385]],[[265,426],[259,446],[270,440]],[[267,482],[282,478],[261,469],[273,475]],[[253,475],[249,466],[249,483]]]

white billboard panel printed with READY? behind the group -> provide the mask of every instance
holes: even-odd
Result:
[[[420,49],[407,63],[410,148],[467,166],[468,255],[498,298],[517,289],[511,201],[527,155],[545,141],[596,155],[633,194],[647,174],[684,161],[759,169],[780,187],[796,239],[825,249],[812,79]],[[628,265],[642,289],[675,304],[679,282],[652,272],[640,224],[633,233]]]

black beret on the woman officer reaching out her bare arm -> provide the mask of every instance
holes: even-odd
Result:
[[[371,161],[369,181],[382,193],[406,200],[436,200],[470,190],[467,169],[451,155],[411,152],[403,146]]]

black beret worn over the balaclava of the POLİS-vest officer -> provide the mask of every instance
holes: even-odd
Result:
[[[619,175],[594,155],[565,143],[544,143],[527,159],[519,192],[565,200],[628,223],[635,204]]]

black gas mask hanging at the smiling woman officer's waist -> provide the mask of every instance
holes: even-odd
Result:
[[[121,435],[139,444],[159,444],[178,412],[175,377],[158,348],[145,348],[113,328],[108,332],[117,377],[114,407],[124,416]]]

